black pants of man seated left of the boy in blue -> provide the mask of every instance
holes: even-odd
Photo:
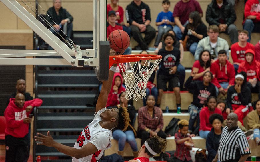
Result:
[[[130,25],[131,28],[131,35],[138,42],[141,50],[147,50],[148,45],[150,42],[155,38],[156,30],[151,26],[147,25],[146,31],[142,32],[145,33],[145,37],[143,38],[141,32],[137,26]]]

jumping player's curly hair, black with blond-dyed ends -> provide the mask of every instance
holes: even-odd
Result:
[[[118,110],[119,110],[119,117],[118,117],[117,128],[122,131],[125,131],[130,122],[129,113],[127,112],[126,107],[119,107]]]

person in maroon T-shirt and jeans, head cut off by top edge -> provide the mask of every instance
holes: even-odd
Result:
[[[175,26],[173,31],[176,34],[176,39],[181,40],[182,33],[185,26],[188,24],[189,15],[192,11],[198,11],[200,17],[202,17],[202,9],[199,2],[196,0],[180,0],[176,3],[173,9],[173,17]]]

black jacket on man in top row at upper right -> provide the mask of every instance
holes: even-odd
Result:
[[[223,5],[221,8],[217,5],[217,1],[213,0],[207,7],[206,11],[206,21],[209,25],[217,25],[221,24],[221,19],[224,20],[224,24],[228,26],[233,24],[237,19],[234,7],[227,2],[227,0],[223,0]]]

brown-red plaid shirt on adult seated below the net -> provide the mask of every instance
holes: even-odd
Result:
[[[138,110],[138,130],[143,130],[145,127],[152,131],[157,128],[163,129],[163,111],[157,106],[153,110],[153,117],[148,113],[147,106],[143,106]]]

